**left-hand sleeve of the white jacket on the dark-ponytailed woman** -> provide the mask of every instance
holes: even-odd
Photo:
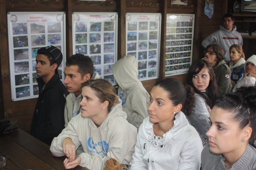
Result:
[[[130,162],[130,170],[147,170],[147,162],[143,159],[142,145],[140,143],[140,136],[144,135],[142,131],[142,125],[140,126],[138,135],[137,135],[137,143],[135,145],[135,151],[132,155],[132,161]]]

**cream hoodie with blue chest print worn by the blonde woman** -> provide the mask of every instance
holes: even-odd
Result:
[[[118,162],[129,164],[136,143],[137,129],[126,120],[121,100],[114,105],[108,116],[96,127],[92,119],[81,113],[73,117],[62,133],[52,141],[50,150],[54,156],[64,156],[62,141],[70,137],[76,146],[84,150],[79,156],[80,166],[91,170],[102,170],[106,160],[115,158]]]

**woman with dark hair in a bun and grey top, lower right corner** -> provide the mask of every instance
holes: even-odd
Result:
[[[252,170],[256,149],[249,145],[256,135],[256,87],[242,87],[222,96],[210,114],[202,151],[202,170]]]

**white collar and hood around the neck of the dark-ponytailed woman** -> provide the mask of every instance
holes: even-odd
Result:
[[[154,145],[157,146],[170,143],[171,141],[179,137],[179,135],[177,134],[179,133],[180,130],[189,127],[188,120],[182,111],[176,113],[173,127],[163,135],[162,139],[155,140],[153,125],[154,123],[151,123],[149,121],[149,116],[146,119],[144,119],[142,125],[144,127],[143,133],[148,141],[152,142]]]

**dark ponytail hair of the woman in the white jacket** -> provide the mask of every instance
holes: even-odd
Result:
[[[154,84],[163,88],[168,94],[168,98],[174,106],[182,104],[182,111],[185,115],[190,115],[195,105],[194,90],[189,85],[183,85],[182,82],[175,78],[166,78]]]

